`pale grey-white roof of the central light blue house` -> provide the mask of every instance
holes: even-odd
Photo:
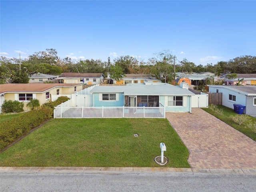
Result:
[[[128,84],[126,86],[95,86],[90,91],[92,93],[124,93],[124,95],[194,95],[191,91],[183,89],[180,86],[174,86],[165,83],[156,84]]]

